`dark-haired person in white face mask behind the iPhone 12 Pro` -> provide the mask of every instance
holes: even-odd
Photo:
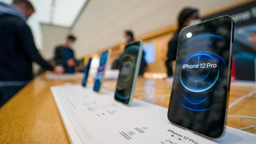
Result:
[[[179,23],[178,30],[175,32],[173,38],[171,38],[171,40],[168,43],[168,52],[167,52],[167,60],[166,60],[168,77],[173,76],[171,62],[176,60],[179,33],[181,32],[181,29],[190,25],[196,25],[200,22],[201,20],[198,18],[198,10],[193,8],[184,8],[180,12],[178,17],[178,23]]]

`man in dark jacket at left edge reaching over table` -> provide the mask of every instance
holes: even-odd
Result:
[[[35,12],[28,0],[13,0],[12,5],[0,2],[0,107],[33,79],[32,62],[53,68],[39,54],[27,19]]]

